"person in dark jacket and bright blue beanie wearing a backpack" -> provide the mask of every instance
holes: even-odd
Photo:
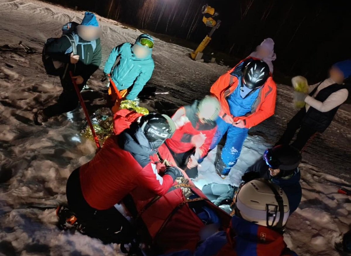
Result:
[[[70,22],[69,24],[73,24]],[[78,24],[77,24],[78,25]],[[74,89],[69,72],[82,90],[90,76],[101,64],[102,52],[100,44],[101,29],[93,13],[86,12],[80,25],[67,28],[73,30],[45,45],[45,58],[61,63],[57,69],[63,91],[56,104],[46,107],[35,114],[34,123],[42,125],[48,118],[74,110],[78,106],[78,95]],[[52,64],[51,65],[55,65]]]

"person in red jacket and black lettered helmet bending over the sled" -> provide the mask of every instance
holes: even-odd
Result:
[[[66,187],[68,208],[78,221],[92,226],[88,235],[105,243],[132,241],[133,228],[114,205],[137,187],[162,196],[183,176],[177,167],[160,163],[157,155],[174,131],[166,115],[140,117],[108,138],[90,162],[71,173]]]

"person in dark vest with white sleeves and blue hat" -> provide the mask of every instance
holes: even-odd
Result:
[[[316,132],[324,132],[331,124],[341,104],[349,96],[351,88],[351,59],[334,64],[330,77],[309,86],[309,94],[295,92],[295,100],[306,105],[287,123],[286,130],[276,145],[290,144],[296,131],[296,140],[291,144],[302,150]]]

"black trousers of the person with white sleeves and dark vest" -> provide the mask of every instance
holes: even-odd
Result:
[[[296,131],[300,128],[299,132],[296,135],[296,140],[291,144],[291,146],[295,147],[298,150],[302,150],[307,141],[311,138],[313,134],[317,131],[307,125],[302,123],[302,119],[306,114],[306,109],[303,108],[297,114],[291,118],[289,123],[287,123],[287,127],[282,137],[278,140],[276,145],[280,144],[290,144],[292,138],[294,137]]]

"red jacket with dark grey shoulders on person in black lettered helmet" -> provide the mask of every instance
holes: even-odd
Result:
[[[98,210],[111,208],[137,187],[162,196],[175,179],[162,176],[165,169],[144,133],[133,127],[108,138],[97,155],[81,166],[81,190],[87,203]]]

